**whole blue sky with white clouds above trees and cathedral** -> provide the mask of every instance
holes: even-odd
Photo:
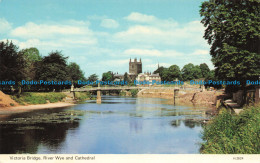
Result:
[[[0,40],[42,56],[61,51],[85,76],[124,74],[129,59],[143,72],[160,66],[208,64],[200,23],[203,0],[0,0]]]

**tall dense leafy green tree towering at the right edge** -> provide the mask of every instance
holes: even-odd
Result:
[[[221,80],[257,80],[260,74],[259,0],[202,3],[204,38],[211,45],[215,75]]]

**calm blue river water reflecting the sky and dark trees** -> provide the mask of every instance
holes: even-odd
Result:
[[[175,106],[165,99],[103,96],[102,104],[87,101],[12,115],[8,120],[71,110],[83,111],[81,120],[33,127],[0,125],[0,153],[196,154],[202,142],[200,121],[212,111]]]

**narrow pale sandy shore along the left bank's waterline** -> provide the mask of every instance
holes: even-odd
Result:
[[[5,117],[10,114],[29,112],[33,110],[41,109],[53,109],[74,106],[73,103],[57,102],[57,103],[48,103],[48,104],[37,104],[37,105],[26,105],[26,106],[14,106],[14,107],[4,107],[0,108],[0,118]]]

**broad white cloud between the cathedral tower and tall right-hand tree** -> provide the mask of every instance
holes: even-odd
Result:
[[[135,15],[135,17],[133,16]],[[139,17],[140,18],[139,18]],[[114,35],[114,41],[142,45],[188,45],[206,46],[204,27],[199,21],[179,25],[172,19],[158,19],[140,14],[130,14],[128,20],[146,20],[146,24],[133,24],[127,30]],[[149,20],[149,21],[148,21]]]

